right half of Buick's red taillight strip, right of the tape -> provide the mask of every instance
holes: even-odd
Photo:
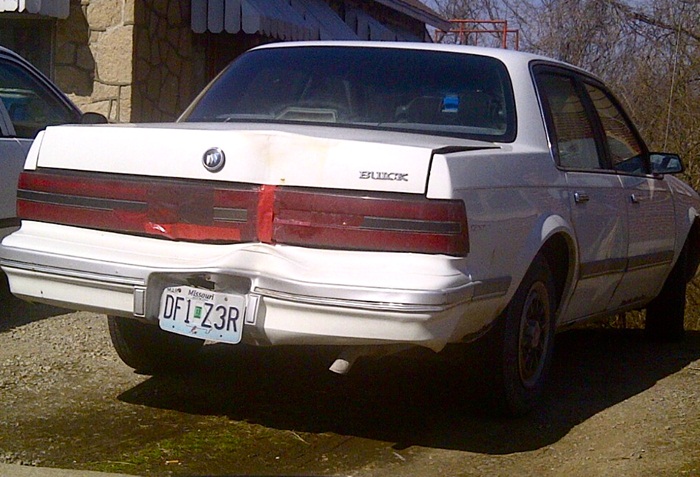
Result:
[[[444,253],[469,251],[462,201],[414,196],[279,190],[278,243],[353,250]]]

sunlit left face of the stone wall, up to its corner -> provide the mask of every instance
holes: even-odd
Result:
[[[132,120],[135,0],[71,0],[56,24],[55,79],[83,110]]]

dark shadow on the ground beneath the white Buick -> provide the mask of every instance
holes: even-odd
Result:
[[[639,330],[561,334],[546,397],[532,415],[515,420],[481,411],[480,378],[470,372],[479,357],[469,353],[450,361],[440,355],[368,360],[348,376],[326,371],[328,358],[289,348],[206,346],[191,373],[152,377],[119,399],[281,430],[380,440],[395,449],[507,454],[550,445],[700,359],[700,333],[690,332],[683,344],[650,343]]]

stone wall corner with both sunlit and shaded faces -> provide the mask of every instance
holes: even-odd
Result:
[[[71,0],[56,23],[55,80],[110,122],[170,121],[208,80],[180,0]]]

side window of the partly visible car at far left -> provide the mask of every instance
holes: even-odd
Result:
[[[19,138],[33,139],[46,126],[78,120],[32,72],[12,61],[0,62],[0,100]]]

